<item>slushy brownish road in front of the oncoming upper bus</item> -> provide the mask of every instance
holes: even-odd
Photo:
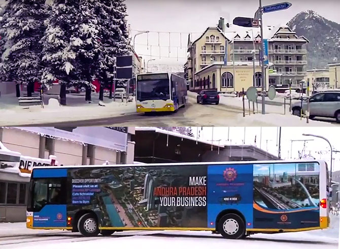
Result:
[[[241,109],[225,105],[200,105],[189,97],[189,103],[176,113],[132,113],[118,117],[100,118],[84,121],[42,123],[40,126],[124,126],[124,127],[177,127],[177,126],[233,126]]]

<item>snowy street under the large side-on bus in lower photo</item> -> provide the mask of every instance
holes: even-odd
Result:
[[[157,248],[338,248],[339,218],[332,216],[331,227],[327,230],[285,234],[257,234],[243,240],[226,240],[219,234],[205,231],[125,231],[116,232],[110,237],[83,237],[78,233],[59,230],[28,230],[25,223],[0,223],[1,248],[94,248],[138,247]],[[245,248],[245,247],[244,247]]]

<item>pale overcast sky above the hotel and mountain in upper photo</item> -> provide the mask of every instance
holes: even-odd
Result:
[[[263,0],[262,5],[280,3],[280,1]],[[285,2],[285,1],[282,1]],[[285,11],[277,11],[264,15],[265,25],[286,24],[292,17],[301,11],[314,10],[321,16],[340,23],[339,0],[290,0],[292,7]],[[150,45],[152,55],[156,60],[154,64],[184,64],[186,61],[187,36],[189,33],[202,33],[208,26],[216,26],[218,19],[224,17],[226,22],[232,23],[236,16],[254,17],[258,8],[256,0],[126,0],[128,22],[133,30],[150,30],[155,32],[183,32],[172,34],[171,46],[178,46],[179,60],[177,60],[177,48],[168,53],[168,34],[160,34],[161,58],[159,58],[158,34],[150,33],[149,42],[147,35],[143,34],[135,39],[135,50],[143,54],[146,59],[150,57]],[[132,32],[134,35],[135,32]],[[182,42],[182,49],[180,48]],[[146,44],[149,43],[149,49]],[[183,48],[184,47],[184,48]],[[173,58],[167,58],[173,57]],[[150,65],[152,64],[150,63]]]

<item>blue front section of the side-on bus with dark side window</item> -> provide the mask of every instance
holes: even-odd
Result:
[[[55,171],[55,174],[52,172]],[[66,174],[60,170],[33,170],[27,203],[27,227],[66,227]],[[65,171],[65,170],[62,170]],[[65,171],[66,172],[66,171]]]

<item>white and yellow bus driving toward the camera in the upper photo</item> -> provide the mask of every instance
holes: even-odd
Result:
[[[177,111],[188,101],[186,80],[173,73],[137,76],[137,112]]]

